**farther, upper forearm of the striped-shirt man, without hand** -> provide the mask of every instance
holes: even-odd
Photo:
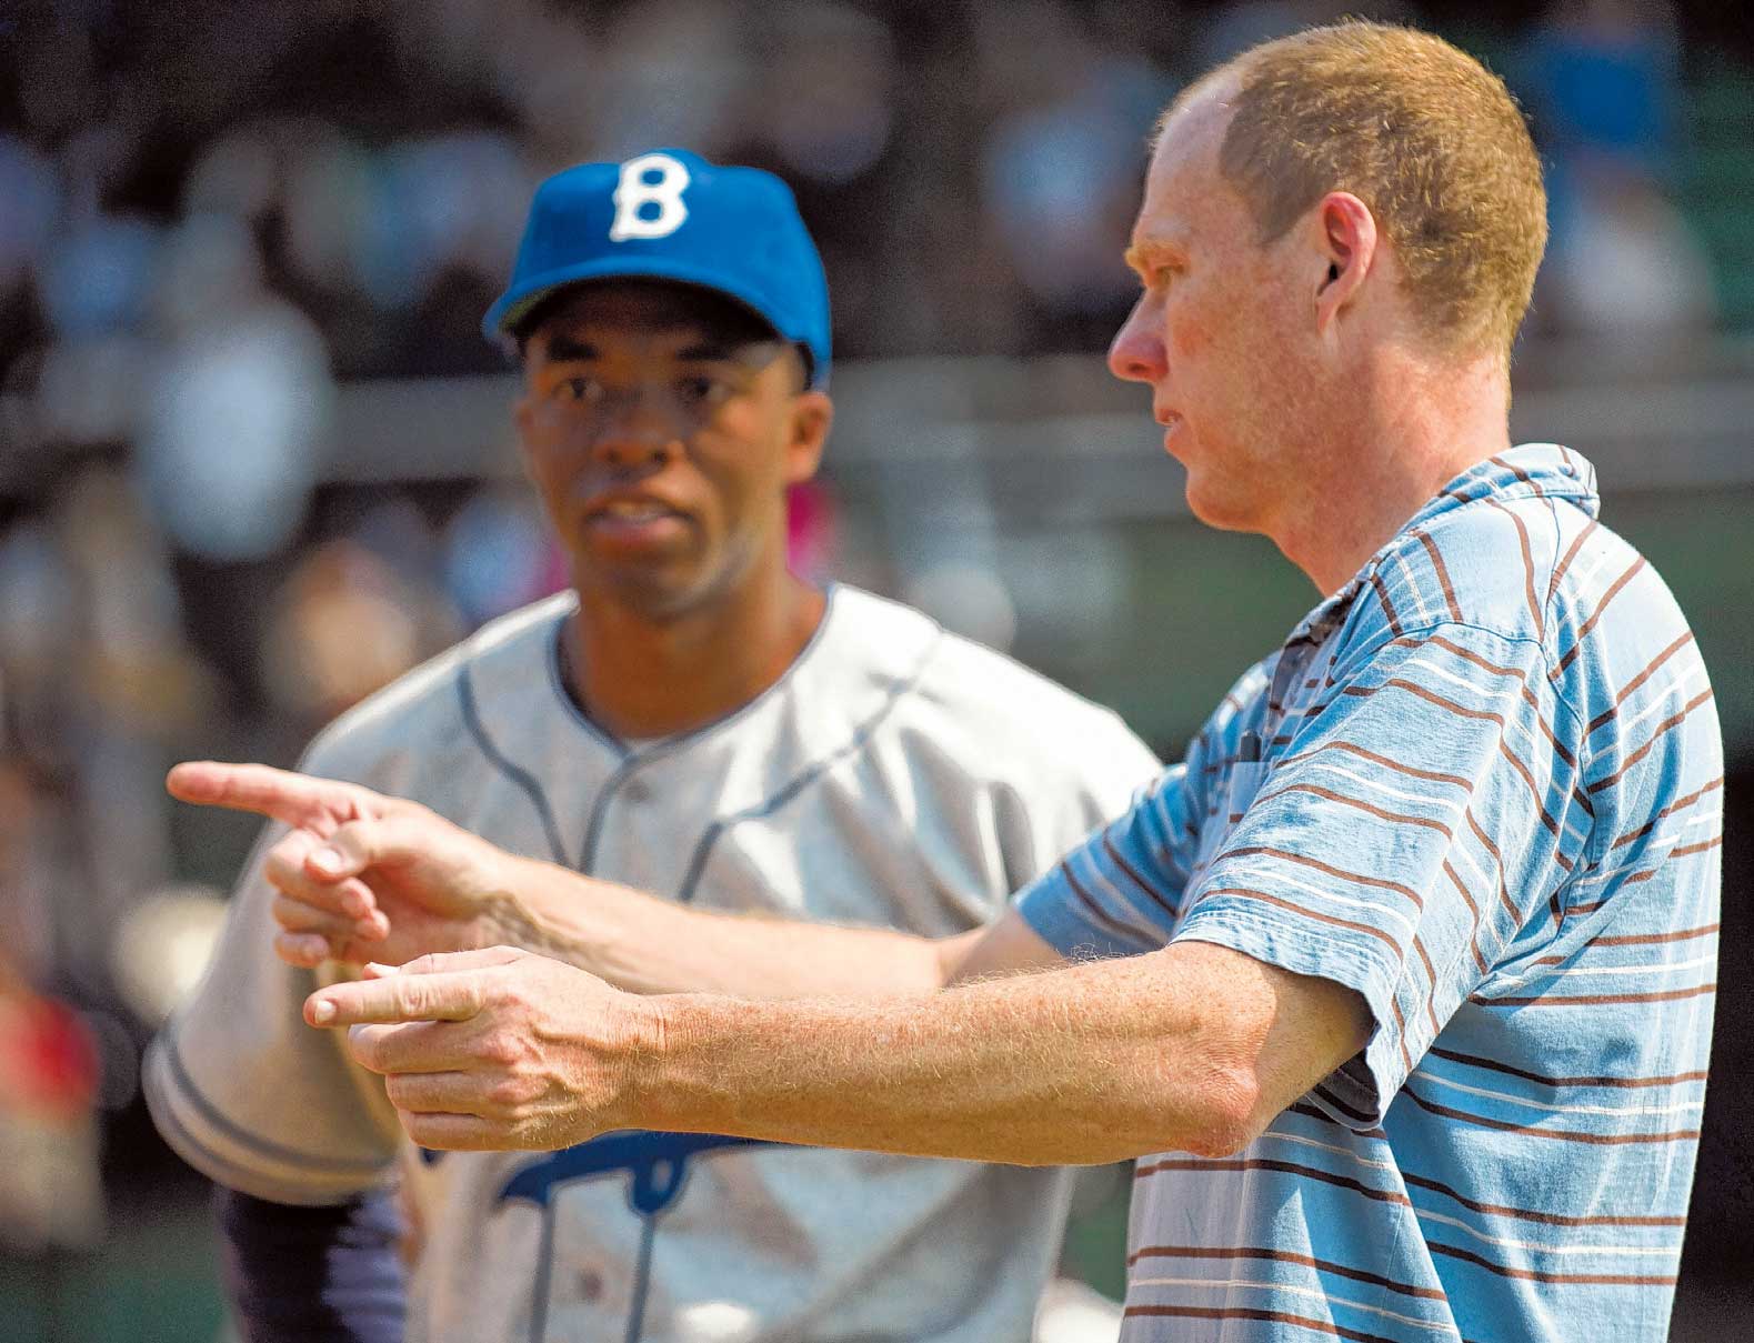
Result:
[[[979,931],[931,940],[881,927],[691,910],[551,863],[524,863],[498,922],[526,950],[638,994],[747,999],[928,994]]]

